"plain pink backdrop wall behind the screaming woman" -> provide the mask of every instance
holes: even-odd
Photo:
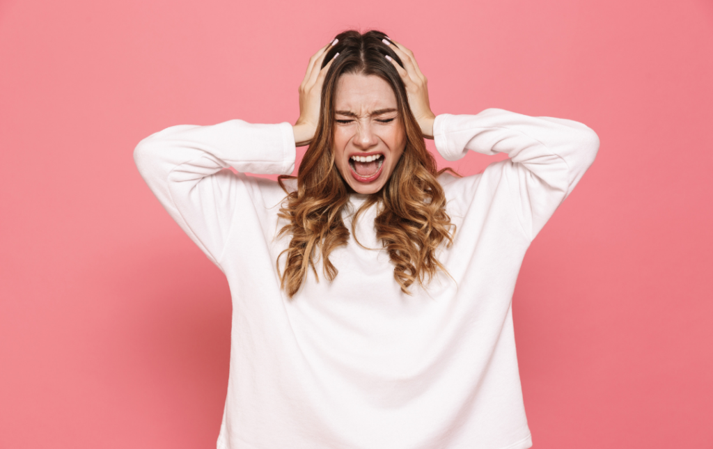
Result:
[[[294,123],[309,56],[352,27],[414,51],[436,114],[600,136],[515,290],[534,447],[713,448],[702,0],[3,1],[0,448],[215,447],[230,292],[133,148],[170,125]]]

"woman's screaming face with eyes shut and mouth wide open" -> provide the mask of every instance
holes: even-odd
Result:
[[[357,193],[384,187],[404,153],[396,94],[378,76],[342,75],[334,98],[334,158]]]

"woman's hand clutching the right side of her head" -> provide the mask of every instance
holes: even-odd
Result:
[[[431,112],[431,105],[429,105],[428,80],[421,73],[419,64],[416,63],[416,58],[414,58],[414,52],[396,41],[384,39],[384,43],[390,46],[399,56],[401,62],[404,63],[404,67],[401,67],[393,58],[386,57],[391,60],[391,63],[396,67],[396,71],[399,72],[401,80],[404,81],[406,93],[409,95],[411,112],[414,113],[416,121],[419,122],[421,132],[424,133],[425,138],[433,139],[436,115]]]

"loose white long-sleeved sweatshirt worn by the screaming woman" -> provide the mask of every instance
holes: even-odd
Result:
[[[292,126],[178,125],[138,144],[144,180],[230,284],[230,378],[217,448],[531,446],[513,289],[525,250],[592,164],[599,138],[572,120],[486,109],[438,115],[434,139],[446,160],[468,150],[510,157],[478,175],[439,178],[457,230],[438,259],[455,283],[440,275],[402,294],[371,207],[357,237],[374,249],[350,238],[332,252],[334,282],[310,273],[292,300],[276,269],[289,243],[275,238],[285,193],[242,174],[292,172]],[[364,199],[352,195],[356,206]]]

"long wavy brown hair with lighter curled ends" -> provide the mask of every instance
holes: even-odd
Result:
[[[351,187],[342,179],[335,165],[333,143],[334,97],[337,82],[344,73],[375,75],[384,79],[396,94],[399,119],[406,134],[406,146],[391,177],[384,187],[372,195],[356,211],[352,219],[352,234],[356,239],[356,221],[361,212],[378,202],[379,210],[374,220],[376,238],[381,241],[394,264],[394,279],[401,291],[411,294],[414,282],[423,286],[438,269],[446,272],[436,259],[439,245],[453,244],[455,225],[446,213],[446,197],[436,179],[441,172],[436,160],[426,150],[421,127],[411,113],[409,98],[403,81],[384,57],[394,58],[401,67],[399,56],[381,39],[381,31],[349,30],[339,33],[339,42],[327,52],[322,67],[337,58],[327,72],[322,86],[322,103],[319,123],[314,138],[307,148],[297,175],[297,190],[289,192],[284,180],[294,176],[278,177],[279,185],[287,193],[279,210],[279,217],[287,220],[278,237],[291,234],[287,249],[277,258],[281,287],[292,298],[311,269],[319,282],[316,264],[321,257],[324,276],[331,282],[337,277],[337,267],[329,261],[329,254],[337,247],[347,245],[349,230],[344,225],[342,213],[349,210]],[[448,169],[446,169],[448,170]],[[451,170],[452,171],[452,170]],[[357,244],[361,245],[358,240]],[[363,247],[363,245],[361,245]],[[280,259],[287,254],[284,271]]]

